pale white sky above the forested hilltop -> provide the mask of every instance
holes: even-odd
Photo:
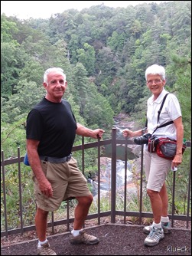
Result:
[[[81,11],[83,8],[102,4],[113,8],[126,8],[128,5],[135,6],[144,2],[173,1],[1,1],[1,15],[5,13],[6,16],[16,16],[19,19],[50,18],[51,15],[71,8]]]

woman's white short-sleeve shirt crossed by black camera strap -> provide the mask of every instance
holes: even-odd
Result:
[[[174,94],[168,94],[166,100],[164,101],[164,106],[161,110],[158,122],[158,110],[161,107],[161,103],[165,94],[168,94],[168,91],[162,90],[161,94],[155,101],[153,100],[153,95],[148,99],[148,133],[153,133],[157,125],[159,126],[171,120],[174,121],[178,117],[181,117],[181,107],[180,103],[177,100],[177,97]],[[168,126],[158,128],[158,130],[156,130],[153,135],[158,137],[166,136],[170,139],[176,139],[176,128],[174,126],[174,123],[171,123]]]

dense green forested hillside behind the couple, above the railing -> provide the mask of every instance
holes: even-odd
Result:
[[[76,120],[109,136],[113,118],[145,122],[145,69],[164,65],[166,89],[177,95],[184,136],[191,129],[191,2],[97,5],[49,19],[1,16],[2,149],[25,147],[24,121],[44,95],[43,74],[62,67]]]

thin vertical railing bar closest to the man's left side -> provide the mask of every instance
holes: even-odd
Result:
[[[22,189],[21,189],[21,159],[20,148],[18,147],[18,190],[19,190],[19,208],[20,208],[20,222],[21,222],[21,235],[24,233],[23,224],[23,204],[22,204]]]

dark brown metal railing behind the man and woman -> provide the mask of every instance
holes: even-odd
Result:
[[[88,214],[87,220],[89,219],[96,219],[97,223],[100,225],[100,221],[102,217],[110,216],[111,223],[116,223],[116,216],[122,216],[124,224],[126,223],[126,217],[136,217],[138,218],[138,224],[142,224],[142,218],[152,218],[152,212],[143,212],[142,211],[142,200],[143,200],[143,146],[141,150],[141,166],[140,166],[140,185],[139,185],[139,202],[138,202],[138,211],[128,211],[127,210],[127,202],[126,202],[126,195],[127,195],[127,159],[128,159],[128,145],[134,144],[132,139],[117,139],[116,137],[116,128],[112,128],[112,139],[103,139],[94,142],[94,143],[84,143],[84,138],[82,137],[82,145],[80,146],[73,146],[73,152],[81,151],[82,153],[82,172],[84,173],[85,169],[85,150],[86,149],[93,149],[97,148],[97,159],[98,159],[98,194],[97,194],[97,204],[98,204],[98,211],[94,214]],[[110,206],[111,208],[109,211],[103,211],[100,210],[100,159],[101,159],[101,149],[103,146],[111,146],[111,202]],[[116,159],[117,159],[117,145],[123,145],[125,147],[125,182],[124,182],[124,206],[123,210],[119,211],[116,210]],[[190,143],[187,143],[187,146],[190,147]],[[5,159],[4,158],[4,152],[2,151],[2,161],[1,161],[1,169],[2,169],[2,176],[1,176],[1,183],[2,183],[2,208],[4,209],[4,220],[5,223],[3,223],[4,230],[1,230],[1,237],[8,235],[15,235],[15,234],[21,234],[23,235],[26,231],[35,230],[34,225],[28,225],[24,226],[23,224],[23,202],[22,202],[22,185],[21,185],[21,176],[22,176],[22,166],[24,156],[20,155],[20,148],[18,148],[18,157],[14,159]],[[20,227],[19,228],[8,228],[8,215],[7,215],[7,191],[6,191],[6,166],[17,164],[17,172],[18,172],[18,193],[19,193],[19,215],[20,215]],[[171,218],[171,225],[174,227],[174,220],[181,220],[186,222],[186,228],[189,227],[189,222],[191,222],[191,211],[190,211],[190,201],[191,201],[191,194],[190,194],[190,182],[191,182],[191,156],[190,156],[190,166],[189,166],[189,177],[188,177],[188,184],[187,184],[187,211],[185,215],[178,215],[175,213],[174,209],[174,200],[175,200],[175,181],[176,181],[176,172],[173,172],[173,184],[172,184],[172,208],[171,208],[171,214],[169,214],[169,217]],[[14,209],[13,209],[14,210]],[[2,214],[2,211],[1,211]],[[1,218],[2,219],[2,218]],[[73,218],[70,217],[70,202],[67,201],[67,218],[60,219],[55,221],[54,220],[54,212],[51,213],[51,221],[48,222],[48,227],[52,228],[52,233],[54,233],[54,227],[58,225],[67,225],[67,231],[70,230],[70,223],[73,222]]]

